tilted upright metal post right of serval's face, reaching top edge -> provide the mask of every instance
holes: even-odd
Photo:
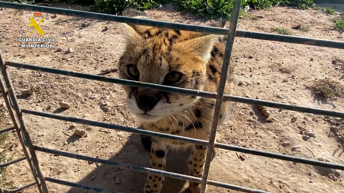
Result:
[[[226,49],[225,49],[225,56],[223,59],[223,65],[221,69],[221,78],[217,89],[217,96],[216,96],[216,103],[215,103],[215,110],[214,110],[214,116],[213,116],[213,122],[212,122],[212,129],[209,136],[209,145],[207,148],[207,156],[204,163],[204,171],[203,171],[203,178],[201,182],[201,193],[205,192],[207,179],[208,179],[208,173],[209,173],[209,166],[210,161],[213,153],[214,143],[215,143],[215,136],[216,136],[216,130],[217,130],[217,124],[220,116],[222,101],[223,101],[223,94],[225,90],[226,80],[227,80],[227,73],[228,68],[233,68],[229,65],[230,62],[230,56],[232,54],[232,47],[234,43],[234,37],[235,37],[235,31],[236,26],[238,23],[239,18],[239,12],[241,7],[241,0],[235,0],[233,5],[233,11],[232,15],[230,16],[230,23],[229,23],[229,30],[228,30],[228,36],[227,36],[227,43],[226,43]],[[230,69],[232,71],[232,69]],[[232,77],[229,77],[232,79]]]

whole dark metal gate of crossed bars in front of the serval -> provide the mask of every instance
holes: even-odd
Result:
[[[154,20],[146,20],[146,19],[136,19],[136,18],[129,18],[129,17],[124,17],[124,16],[109,15],[109,14],[100,14],[100,13],[92,13],[92,12],[85,12],[85,11],[67,10],[67,9],[50,8],[50,7],[42,7],[42,6],[36,6],[36,5],[27,5],[27,4],[18,4],[18,3],[10,3],[10,2],[0,1],[0,7],[4,7],[4,8],[29,10],[29,11],[40,11],[40,12],[45,12],[45,13],[61,14],[61,15],[68,15],[68,16],[98,19],[98,20],[107,20],[107,21],[114,21],[114,22],[121,22],[121,23],[140,24],[140,25],[155,26],[155,27],[169,28],[169,29],[175,29],[175,30],[186,30],[186,31],[194,31],[194,32],[206,32],[206,33],[218,34],[218,35],[228,35],[227,43],[226,43],[226,51],[225,51],[224,61],[223,61],[223,67],[222,67],[222,71],[221,71],[221,78],[220,78],[220,82],[219,82],[219,86],[218,86],[218,93],[210,93],[210,92],[203,92],[203,91],[197,91],[197,90],[176,88],[176,87],[170,87],[170,86],[163,86],[163,85],[159,85],[159,84],[151,84],[151,83],[144,83],[144,82],[138,82],[138,81],[123,80],[123,79],[118,79],[118,78],[109,78],[109,77],[90,75],[90,74],[80,73],[80,72],[72,72],[72,71],[55,69],[55,68],[47,68],[47,67],[42,67],[42,66],[5,61],[1,55],[1,52],[0,52],[0,68],[1,68],[1,74],[2,74],[2,77],[0,77],[0,89],[1,89],[1,92],[3,95],[3,98],[5,100],[5,103],[8,107],[9,114],[10,114],[12,121],[13,121],[12,127],[1,129],[0,133],[15,129],[15,131],[17,132],[19,141],[23,147],[24,154],[25,154],[24,157],[20,157],[18,159],[11,160],[7,163],[0,164],[0,167],[6,167],[6,166],[9,166],[10,164],[17,163],[19,161],[26,159],[29,163],[31,172],[32,172],[33,177],[35,179],[34,182],[23,185],[17,189],[13,189],[13,190],[8,190],[8,189],[4,189],[4,188],[0,187],[0,192],[1,193],[19,192],[25,188],[28,188],[28,187],[36,184],[40,193],[48,193],[48,189],[46,186],[46,181],[48,181],[48,182],[63,184],[63,185],[72,186],[72,187],[76,187],[76,188],[80,188],[80,189],[93,190],[96,192],[118,193],[117,191],[113,191],[113,190],[105,190],[105,189],[101,189],[101,188],[91,187],[91,186],[87,186],[87,185],[83,185],[83,184],[72,183],[72,182],[68,182],[68,181],[63,181],[63,180],[58,180],[58,179],[43,176],[43,174],[40,170],[40,167],[39,167],[39,162],[37,160],[35,151],[42,151],[42,152],[46,152],[48,154],[54,154],[54,155],[58,155],[58,156],[65,156],[65,157],[69,157],[69,158],[92,161],[92,162],[107,164],[110,166],[116,166],[116,167],[120,167],[120,168],[143,171],[143,172],[148,172],[148,173],[164,175],[166,177],[198,182],[198,183],[202,184],[201,193],[204,193],[204,189],[205,189],[206,184],[219,186],[222,188],[227,188],[227,189],[232,189],[232,190],[237,190],[237,191],[242,191],[242,192],[267,193],[266,191],[255,190],[255,189],[246,188],[243,186],[232,185],[232,184],[228,184],[228,183],[224,183],[224,182],[217,182],[217,181],[213,181],[213,180],[208,180],[209,165],[210,165],[210,161],[211,161],[211,154],[212,154],[213,148],[222,148],[222,149],[227,149],[227,150],[231,150],[231,151],[238,151],[238,152],[243,152],[243,153],[252,154],[252,155],[258,155],[258,156],[281,159],[281,160],[286,160],[286,161],[310,164],[310,165],[314,165],[314,166],[321,166],[321,167],[326,167],[326,168],[344,170],[344,165],[340,165],[340,164],[323,162],[323,161],[318,161],[318,160],[305,159],[305,158],[299,158],[299,157],[282,155],[282,154],[276,154],[276,153],[260,151],[260,150],[250,149],[250,148],[243,148],[243,147],[238,147],[238,146],[232,146],[232,145],[227,145],[227,144],[214,143],[218,119],[219,119],[220,108],[221,108],[223,101],[233,101],[233,102],[239,102],[239,103],[246,103],[246,104],[254,104],[254,105],[279,108],[279,109],[290,110],[290,111],[299,111],[299,112],[304,112],[304,113],[312,113],[312,114],[319,114],[319,115],[327,115],[327,116],[344,118],[344,112],[330,111],[330,110],[324,110],[324,109],[290,105],[290,104],[285,104],[285,103],[277,103],[277,102],[257,100],[257,99],[249,99],[249,98],[244,98],[244,97],[239,97],[239,96],[231,96],[231,95],[225,95],[224,94],[224,86],[225,86],[225,82],[226,82],[226,78],[227,78],[226,77],[227,71],[229,68],[232,68],[232,66],[230,66],[229,59],[230,59],[230,56],[232,53],[232,47],[233,47],[233,42],[234,42],[235,36],[236,37],[246,37],[246,38],[262,39],[262,40],[270,40],[270,41],[278,41],[278,42],[287,42],[287,43],[295,43],[295,44],[304,44],[304,45],[344,49],[344,42],[236,30],[238,17],[239,17],[239,11],[240,11],[240,5],[241,5],[241,0],[235,0],[233,12],[232,12],[232,15],[230,18],[229,29],[222,29],[222,28],[209,27],[209,26],[189,25],[189,24],[171,23],[171,22],[154,21]],[[120,126],[120,125],[101,123],[101,122],[90,121],[90,120],[86,120],[86,119],[82,119],[82,118],[56,115],[56,114],[52,114],[52,113],[45,113],[45,112],[21,108],[19,106],[17,97],[14,93],[14,89],[13,89],[13,86],[12,86],[12,83],[11,83],[9,73],[7,71],[6,66],[11,66],[11,67],[16,67],[16,68],[24,68],[24,69],[29,69],[29,70],[37,70],[37,71],[42,71],[42,72],[54,73],[54,74],[58,74],[58,75],[85,78],[85,79],[98,80],[98,81],[104,81],[104,82],[110,82],[110,83],[126,84],[129,86],[135,86],[135,87],[145,87],[145,88],[149,88],[149,89],[155,89],[155,90],[166,91],[166,92],[177,92],[177,93],[182,93],[182,94],[187,94],[187,95],[197,95],[197,96],[201,96],[201,97],[205,97],[205,98],[216,99],[215,111],[214,111],[214,116],[213,116],[213,121],[212,121],[212,129],[211,129],[209,141],[194,139],[194,138],[188,138],[188,137],[182,137],[182,136],[176,136],[176,135],[170,135],[170,134],[164,134],[164,133],[159,133],[159,132],[152,132],[149,130],[124,127],[124,126]],[[5,84],[3,83],[3,80],[4,80]],[[6,85],[6,87],[5,87],[5,85]],[[36,115],[36,116],[42,116],[42,117],[49,117],[49,118],[53,118],[53,119],[57,119],[57,120],[69,121],[69,122],[74,122],[74,123],[86,124],[86,125],[90,125],[90,126],[116,129],[116,130],[121,130],[121,131],[125,131],[125,132],[137,133],[137,134],[141,134],[141,135],[150,135],[150,136],[154,136],[154,137],[173,139],[173,140],[178,140],[178,141],[184,141],[187,143],[207,146],[208,148],[207,148],[207,155],[206,155],[206,160],[205,160],[205,165],[204,165],[203,178],[196,178],[196,177],[192,177],[189,175],[183,175],[183,174],[178,174],[178,173],[173,173],[173,172],[161,171],[161,170],[151,169],[151,168],[142,167],[142,166],[135,166],[132,164],[127,164],[127,163],[122,163],[122,162],[116,162],[116,161],[104,160],[104,159],[99,159],[99,158],[94,158],[94,157],[82,156],[82,155],[78,155],[78,154],[72,154],[69,152],[58,151],[58,150],[48,149],[45,147],[35,146],[32,144],[31,139],[30,139],[30,135],[29,135],[28,130],[25,126],[25,122],[23,119],[23,113],[32,114],[32,115]],[[114,187],[114,189],[115,189],[115,187]]]

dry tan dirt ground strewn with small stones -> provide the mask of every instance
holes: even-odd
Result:
[[[156,20],[204,25],[209,22],[195,15],[183,13],[172,5],[162,9],[148,10]],[[44,37],[54,37],[54,48],[21,48],[18,38],[31,37],[29,33],[30,11],[5,9],[0,11],[0,48],[6,60],[41,65],[91,74],[113,68],[124,45],[120,24],[98,20],[67,17],[43,13],[40,26]],[[344,41],[338,32],[332,31],[333,15],[315,10],[298,10],[276,7],[253,11],[254,18],[242,18],[239,30],[271,33],[274,27],[287,27],[294,36]],[[301,33],[292,26],[305,24],[310,31]],[[109,29],[105,30],[105,26]],[[228,27],[228,24],[227,24]],[[32,37],[41,37],[34,32]],[[61,47],[63,51],[56,51]],[[66,50],[72,48],[73,52]],[[236,38],[233,59],[236,69],[237,95],[283,102],[288,104],[344,111],[343,99],[325,102],[315,98],[307,89],[314,80],[329,78],[343,84],[343,71],[332,64],[334,57],[344,59],[340,49],[288,44],[257,39]],[[280,69],[287,69],[282,70]],[[59,76],[24,69],[9,68],[15,91],[22,107],[74,116],[105,123],[137,127],[138,121],[123,104],[120,85]],[[287,73],[283,73],[287,72]],[[106,76],[117,77],[116,71]],[[241,83],[239,83],[241,82]],[[32,95],[21,95],[22,89],[32,89]],[[60,103],[71,104],[67,110]],[[2,96],[0,103],[3,102]],[[100,109],[100,103],[108,103],[109,111]],[[268,108],[276,118],[266,123],[259,110],[248,104],[237,104],[228,125],[218,131],[222,143],[249,147],[331,163],[344,164],[343,143],[330,129],[337,122],[326,117]],[[6,109],[1,109],[1,128],[11,125]],[[140,144],[139,135],[116,130],[100,129],[25,115],[34,145],[72,152],[101,159],[115,160],[148,167],[149,154]],[[76,128],[87,130],[87,137],[75,139],[68,135]],[[312,129],[314,137],[303,140],[300,129]],[[68,134],[68,135],[67,135]],[[10,133],[8,147],[14,158],[22,155],[17,137]],[[13,145],[14,144],[14,145]],[[4,147],[3,147],[4,148]],[[166,170],[187,173],[189,152],[172,152],[168,155]],[[240,153],[241,154],[241,153]],[[239,154],[239,155],[240,155]],[[271,192],[343,193],[344,173],[305,164],[277,159],[245,155],[240,160],[234,151],[219,150],[214,158],[210,179]],[[119,169],[107,165],[89,163],[61,156],[37,152],[44,175],[125,193],[141,192],[146,173]],[[6,182],[19,186],[31,182],[32,174],[25,161],[8,167]],[[119,182],[115,182],[117,179]],[[50,192],[89,192],[47,182]],[[164,193],[189,192],[183,180],[168,178]],[[35,188],[24,192],[35,192]],[[208,192],[236,192],[209,186]]]

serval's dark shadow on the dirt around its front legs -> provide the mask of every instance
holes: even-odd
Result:
[[[166,159],[166,171],[187,174],[188,164],[186,163],[189,159],[189,152],[169,152]],[[109,160],[118,162],[125,160],[124,163],[148,167],[149,152],[143,148],[140,135],[132,134],[127,143]],[[90,172],[78,183],[123,193],[141,193],[146,177],[147,173],[144,172],[100,164],[98,168]],[[116,183],[116,178],[119,178],[120,182],[117,179]],[[185,189],[184,186],[188,186],[188,183],[184,180],[166,178],[162,192],[180,193]],[[95,191],[71,188],[67,192],[94,193]],[[184,190],[183,193],[189,193],[189,190]]]

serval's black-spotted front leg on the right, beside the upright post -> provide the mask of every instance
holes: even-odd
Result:
[[[197,178],[203,177],[203,167],[207,147],[202,145],[195,145],[189,159],[189,175]],[[200,193],[201,184],[196,182],[189,182],[189,190],[191,193]]]

